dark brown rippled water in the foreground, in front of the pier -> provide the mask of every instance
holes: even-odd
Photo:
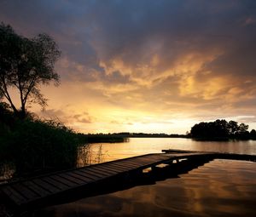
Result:
[[[255,171],[256,163],[214,160],[180,179],[83,198],[35,216],[255,216]]]

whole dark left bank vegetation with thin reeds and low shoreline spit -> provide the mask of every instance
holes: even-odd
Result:
[[[10,176],[7,172],[15,178],[75,168],[81,157],[86,165],[96,161],[88,143],[123,141],[120,135],[77,134],[58,121],[32,115],[20,119],[0,102],[0,180]]]

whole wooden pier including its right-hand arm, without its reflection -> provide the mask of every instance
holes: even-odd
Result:
[[[104,185],[108,180],[113,181],[118,177],[127,177],[129,174],[142,172],[145,168],[154,168],[161,163],[172,164],[184,160],[198,161],[214,158],[256,161],[255,156],[249,155],[177,150],[166,150],[165,152],[129,157],[4,184],[0,186],[1,197],[4,197],[5,201],[12,206],[26,209],[44,203],[50,198],[78,191],[82,187]]]

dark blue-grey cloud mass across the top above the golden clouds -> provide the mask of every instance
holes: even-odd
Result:
[[[254,1],[2,1],[0,6],[1,20],[27,35],[48,32],[63,55],[87,71],[117,57],[126,66],[148,64],[153,54],[160,55],[164,70],[186,54],[221,48],[224,54],[206,69],[255,73]]]

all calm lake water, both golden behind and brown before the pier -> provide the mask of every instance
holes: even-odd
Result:
[[[95,144],[87,151],[96,163],[168,148],[256,154],[255,141],[144,138]],[[214,160],[177,178],[40,209],[34,216],[256,216],[255,204],[256,163]]]

